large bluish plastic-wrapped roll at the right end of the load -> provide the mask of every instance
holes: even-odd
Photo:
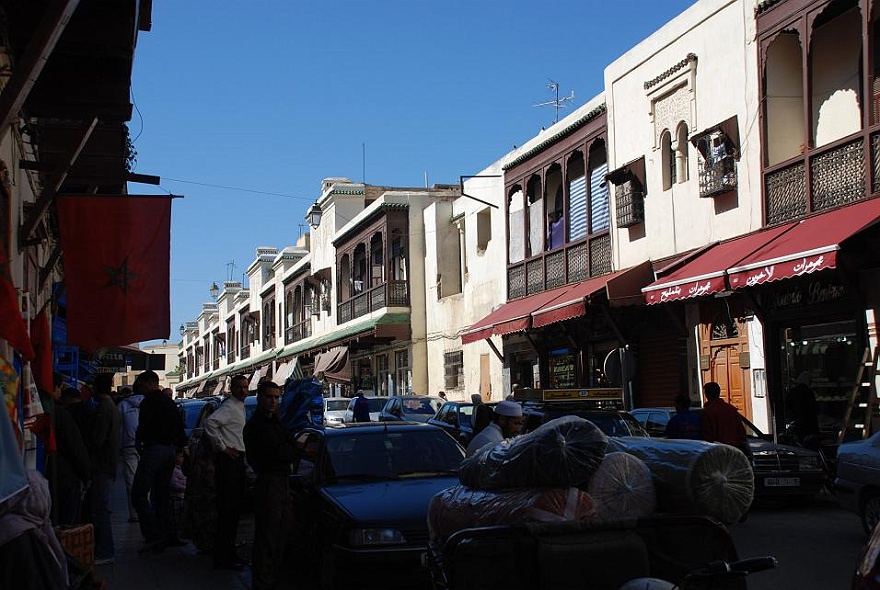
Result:
[[[658,508],[737,522],[755,493],[752,466],[737,448],[701,440],[622,437],[610,451],[644,461],[654,476]]]

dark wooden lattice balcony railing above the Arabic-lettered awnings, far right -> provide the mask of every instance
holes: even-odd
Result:
[[[870,162],[865,136],[846,138],[775,166],[764,172],[764,210],[767,225],[803,217],[859,201],[868,186],[878,190],[880,133],[872,133]],[[871,172],[871,183],[867,174]]]

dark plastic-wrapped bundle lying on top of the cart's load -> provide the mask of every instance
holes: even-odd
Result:
[[[586,488],[607,442],[592,422],[562,416],[468,457],[458,476],[464,485],[481,490]]]

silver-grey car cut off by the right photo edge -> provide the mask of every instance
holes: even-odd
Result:
[[[834,489],[840,505],[858,514],[870,533],[880,522],[880,432],[840,445]]]

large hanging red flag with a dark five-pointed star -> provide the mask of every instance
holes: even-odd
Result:
[[[94,352],[171,335],[171,198],[59,196],[67,343]]]

